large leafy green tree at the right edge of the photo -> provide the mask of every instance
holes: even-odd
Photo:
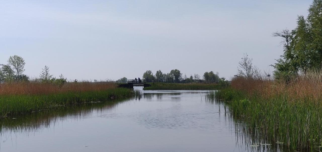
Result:
[[[273,33],[275,37],[282,37],[284,53],[275,68],[274,78],[289,81],[298,76],[299,72],[321,68],[322,65],[322,0],[313,0],[308,9],[308,18],[298,16],[297,27],[290,32]]]

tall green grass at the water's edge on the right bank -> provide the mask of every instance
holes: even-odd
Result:
[[[249,95],[232,88],[213,91],[207,96],[208,99],[223,99],[236,120],[236,133],[245,138],[273,145],[278,143],[286,151],[322,150],[320,103],[309,98],[290,100],[285,94],[264,99],[259,94]],[[237,123],[238,120],[243,123]]]

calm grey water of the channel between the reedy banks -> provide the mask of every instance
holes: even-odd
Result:
[[[1,120],[0,151],[248,151],[207,91],[143,91]]]

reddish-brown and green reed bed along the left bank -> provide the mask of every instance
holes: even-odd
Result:
[[[68,82],[58,87],[50,83],[0,85],[0,117],[52,107],[130,97],[133,90],[117,88],[109,82]]]

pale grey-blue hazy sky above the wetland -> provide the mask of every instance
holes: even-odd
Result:
[[[312,0],[1,0],[0,63],[25,59],[67,79],[117,80],[147,70],[236,74],[243,53],[262,71],[283,53],[273,32],[294,29]]]

